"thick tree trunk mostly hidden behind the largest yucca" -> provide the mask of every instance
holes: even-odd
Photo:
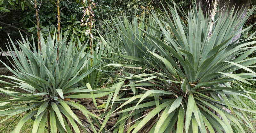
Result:
[[[212,6],[213,6],[212,0],[209,0],[209,2],[206,1],[206,0],[196,0],[196,4],[197,4],[197,7],[200,6],[202,8],[204,16],[211,15],[211,14],[209,14],[209,9],[211,7],[210,10],[212,11]],[[233,6],[236,6],[235,10],[236,9],[238,9],[238,10],[243,9],[244,10],[244,12],[241,12],[241,14],[242,14],[241,18],[239,18],[239,19],[243,20],[244,17],[246,16],[247,10],[248,10],[248,8],[250,6],[250,0],[221,0],[221,1],[219,1],[220,12],[230,12],[230,10],[232,10]],[[238,28],[238,25],[235,27],[235,29]],[[242,28],[243,27],[241,27],[239,29],[239,31],[241,31]],[[239,39],[240,36],[241,36],[241,34],[235,35],[232,42],[234,42],[237,39]],[[228,110],[228,109],[225,109],[225,110],[227,112],[231,113],[230,110]],[[221,117],[220,117],[220,115],[218,113],[216,113],[215,111],[212,111],[212,112],[215,113],[221,119]],[[215,132],[217,133],[216,130],[215,130]],[[225,133],[225,132],[223,131],[223,133]]]

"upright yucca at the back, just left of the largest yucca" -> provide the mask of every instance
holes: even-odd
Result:
[[[116,16],[112,18],[115,27],[110,27],[107,23],[106,31],[117,39],[116,47],[120,47],[120,56],[122,59],[132,61],[137,65],[144,65],[144,59],[148,59],[150,54],[148,51],[155,51],[155,48],[150,43],[150,39],[140,29],[146,30],[148,33],[154,36],[160,36],[159,32],[154,30],[156,28],[156,22],[154,19],[146,19],[145,13],[137,18],[136,13],[132,21],[123,14],[122,19]],[[148,21],[149,25],[145,25],[144,21]],[[108,38],[108,37],[107,37]],[[109,41],[109,40],[108,40]],[[112,40],[110,40],[112,42]]]

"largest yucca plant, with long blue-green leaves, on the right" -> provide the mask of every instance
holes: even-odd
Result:
[[[250,12],[243,20],[239,19],[242,11],[234,8],[229,13],[216,12],[215,24],[209,32],[211,20],[204,17],[200,8],[197,11],[195,5],[188,15],[183,14],[188,24],[178,15],[178,6],[168,8],[170,12],[165,11],[163,16],[152,10],[163,37],[140,28],[157,50],[148,51],[157,65],[148,70],[151,74],[127,77],[136,82],[124,85],[126,89],[119,92],[123,97],[115,98],[121,105],[113,113],[120,116],[112,129],[132,133],[232,133],[237,129],[245,133],[242,125],[246,125],[255,133],[245,112],[256,111],[240,99],[246,97],[255,103],[249,96],[255,91],[241,89],[243,83],[250,84],[248,80],[256,77],[249,69],[256,58],[246,59],[256,50],[250,47],[256,43],[251,41],[255,32],[245,40],[232,42],[235,35],[252,27],[239,31]],[[238,69],[250,73],[231,73]],[[133,89],[137,91],[135,96],[129,92]]]

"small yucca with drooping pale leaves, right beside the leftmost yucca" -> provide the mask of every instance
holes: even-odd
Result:
[[[82,48],[84,44],[79,40],[77,42],[78,48]],[[88,50],[85,50],[80,58],[85,57],[90,61],[86,62],[86,65],[81,68],[80,74],[90,71],[92,68],[95,69],[78,82],[81,87],[76,89],[77,93],[66,96],[66,98],[75,98],[73,100],[79,102],[80,105],[85,106],[100,118],[104,118],[110,110],[108,105],[113,96],[112,93],[115,91],[116,77],[118,76],[114,74],[116,73],[115,68],[111,67],[111,65],[108,67],[108,64],[112,62],[109,59],[116,59],[113,57],[116,55],[112,54],[115,49],[113,49],[113,45],[109,45],[106,42],[98,42],[92,49],[92,54],[90,53],[91,50],[86,51]],[[87,55],[87,53],[90,54]],[[108,120],[112,122],[108,122]],[[109,127],[113,126],[114,121],[116,121],[115,117],[107,117],[103,122],[94,118],[93,123],[96,123],[97,127],[95,129],[97,132],[104,133]],[[88,121],[82,121],[82,123],[85,126],[90,126],[91,124]]]

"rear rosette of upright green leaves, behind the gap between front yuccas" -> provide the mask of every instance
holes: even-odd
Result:
[[[106,23],[106,28],[104,28],[111,35],[106,34],[105,38],[100,36],[103,43],[115,50],[114,53],[110,51],[114,58],[111,57],[110,60],[113,62],[108,66],[119,69],[118,71],[122,71],[122,74],[125,72],[140,74],[147,71],[147,68],[151,67],[150,64],[154,64],[154,61],[147,61],[151,60],[149,51],[154,52],[156,48],[140,29],[161,38],[161,33],[154,30],[157,28],[155,20],[152,17],[145,18],[145,13],[143,13],[140,17],[134,16],[132,21],[129,21],[125,14],[122,19],[116,16],[116,18],[112,18],[112,21],[114,27]],[[145,22],[148,22],[149,25],[146,25]]]

